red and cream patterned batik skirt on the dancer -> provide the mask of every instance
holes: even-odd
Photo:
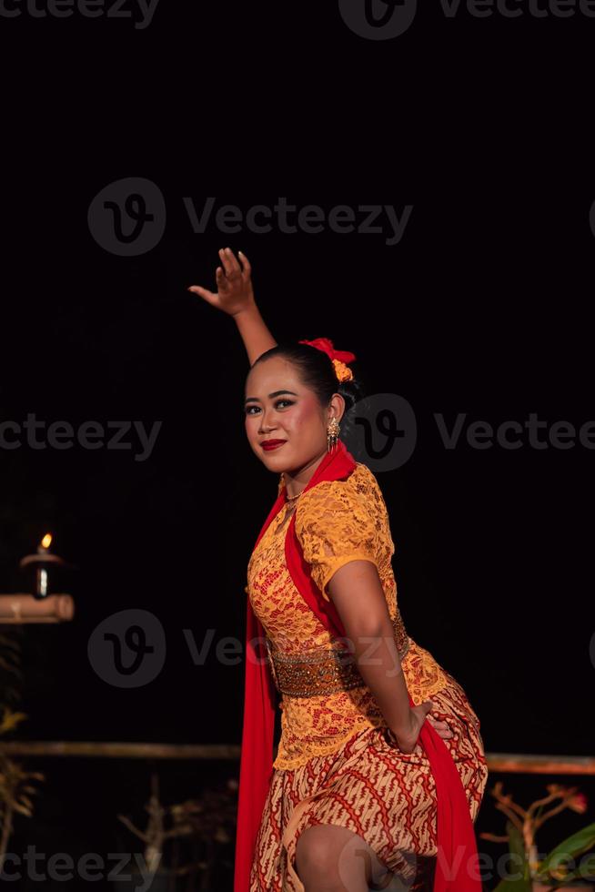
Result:
[[[453,732],[442,739],[475,821],[488,779],[479,719],[463,688],[446,675],[449,683],[429,697],[434,704],[430,715]],[[436,785],[422,745],[401,753],[389,743],[385,727],[370,726],[348,737],[335,753],[312,756],[298,768],[274,769],[250,892],[304,892],[296,846],[301,832],[318,824],[346,827],[361,836],[393,876],[410,885],[419,863],[438,853]]]

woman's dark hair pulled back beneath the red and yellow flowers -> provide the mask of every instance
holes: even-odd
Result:
[[[328,353],[318,350],[318,347],[311,347],[309,344],[286,341],[261,353],[252,364],[252,368],[254,369],[257,362],[270,360],[274,356],[282,356],[297,367],[299,380],[309,390],[314,390],[323,408],[326,409],[333,393],[339,393],[343,397],[345,412],[340,420],[340,437],[343,439],[343,435],[349,432],[353,424],[349,410],[365,396],[364,385],[357,378],[353,363],[348,364],[354,375],[353,380],[339,381],[335,373],[335,366]]]

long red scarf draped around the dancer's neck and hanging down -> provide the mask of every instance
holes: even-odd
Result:
[[[320,481],[344,480],[355,467],[353,456],[343,441],[339,440],[336,449],[328,452],[320,462],[304,492]],[[285,487],[282,487],[258,534],[256,545],[286,501]],[[287,524],[285,539],[287,570],[298,592],[328,632],[337,637],[344,637],[346,633],[337,608],[332,601],[324,600],[311,577],[295,526],[296,512],[293,512]],[[234,892],[249,892],[250,869],[255,855],[257,832],[273,773],[276,688],[267,665],[265,638],[266,632],[252,610],[248,597],[246,681]],[[409,703],[415,705],[410,695]],[[424,722],[422,725],[418,742],[428,756],[436,782],[439,857],[434,877],[434,892],[481,892],[475,831],[460,775],[449,749],[429,722]]]

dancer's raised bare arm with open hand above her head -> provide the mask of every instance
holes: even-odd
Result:
[[[217,292],[200,285],[191,285],[188,291],[198,294],[212,307],[223,310],[236,320],[237,330],[246,347],[248,362],[254,365],[262,353],[277,346],[277,341],[267,329],[257,308],[249,260],[241,251],[237,253],[242,261],[241,266],[231,248],[220,248],[219,258],[223,268],[217,267],[215,272]]]

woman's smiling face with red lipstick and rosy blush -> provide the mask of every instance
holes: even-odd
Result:
[[[342,399],[336,394],[329,406],[335,410],[325,412],[316,393],[298,379],[293,363],[281,356],[258,362],[246,380],[246,433],[252,451],[269,471],[298,471],[327,450],[327,415],[339,417],[336,400]],[[266,449],[268,440],[282,443]]]

